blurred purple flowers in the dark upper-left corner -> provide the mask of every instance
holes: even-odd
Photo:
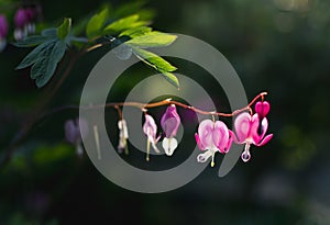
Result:
[[[35,32],[35,21],[40,11],[38,5],[24,7],[16,10],[13,18],[15,25],[13,36],[15,41],[21,41]],[[8,32],[8,20],[4,14],[0,13],[0,52],[7,46]]]

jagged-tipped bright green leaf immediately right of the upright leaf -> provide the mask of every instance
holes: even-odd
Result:
[[[121,31],[136,27],[136,26],[142,26],[146,25],[148,22],[146,21],[139,21],[139,15],[133,14],[123,19],[120,19],[118,21],[114,21],[113,23],[110,23],[108,26],[105,29],[106,34],[113,34],[113,33],[119,33]]]

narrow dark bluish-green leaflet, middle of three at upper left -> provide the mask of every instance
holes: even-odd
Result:
[[[15,69],[23,69],[34,64],[38,58],[44,56],[46,52],[45,49],[53,46],[54,42],[55,40],[51,40],[35,47],[31,53],[28,54],[28,56],[25,56],[25,58],[19,64],[19,66],[16,66]]]

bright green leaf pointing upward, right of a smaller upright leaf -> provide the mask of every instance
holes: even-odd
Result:
[[[107,22],[109,11],[108,8],[103,9],[101,12],[95,14],[89,22],[87,23],[86,27],[86,35],[88,38],[92,38],[95,36],[100,35],[102,32],[102,27]]]

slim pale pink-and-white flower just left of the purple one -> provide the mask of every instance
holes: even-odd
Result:
[[[150,145],[152,144],[154,150],[156,153],[160,153],[156,144],[157,144],[158,139],[161,138],[161,136],[156,137],[156,135],[157,135],[157,125],[156,125],[154,119],[148,114],[145,114],[145,122],[144,122],[144,125],[143,125],[143,132],[147,137],[147,140],[146,140],[146,160],[148,161],[150,160],[150,158],[148,158]]]

